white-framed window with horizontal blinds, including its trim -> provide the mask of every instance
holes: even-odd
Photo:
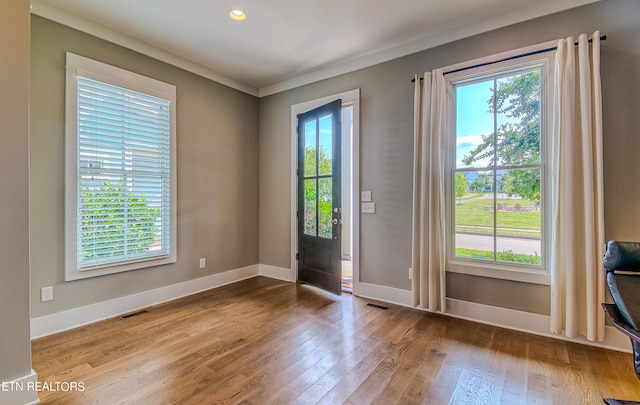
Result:
[[[175,87],[67,54],[68,280],[175,262]]]

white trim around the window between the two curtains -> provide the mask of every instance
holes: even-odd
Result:
[[[453,66],[448,66],[443,68],[445,72],[454,71],[461,68],[466,68],[470,66],[481,65],[483,63],[488,63],[492,61],[502,60],[506,58],[510,58],[516,55],[522,55],[529,52],[535,52],[538,50],[548,49],[555,47],[557,41],[550,41],[543,44],[538,44],[535,46],[530,46],[526,48],[516,49],[509,52],[500,53],[497,55],[488,56],[485,58],[475,59],[472,61],[460,63]],[[454,215],[452,204],[455,199],[453,193],[453,182],[454,182],[454,172],[455,172],[455,142],[450,142],[450,150],[449,150],[449,158],[447,173],[449,173],[447,181],[446,181],[446,204],[447,204],[447,264],[446,271],[451,273],[461,273],[468,274],[474,276],[481,277],[489,277],[489,278],[498,278],[504,280],[512,280],[512,281],[520,281],[527,282],[533,284],[543,284],[550,285],[551,277],[549,272],[549,264],[550,264],[550,237],[549,230],[551,229],[549,203],[551,199],[549,198],[549,190],[548,186],[548,162],[547,162],[547,143],[549,142],[549,133],[552,129],[551,123],[551,114],[552,114],[552,99],[548,93],[548,89],[552,88],[554,81],[554,58],[555,51],[549,51],[545,53],[540,53],[536,55],[525,56],[522,58],[512,59],[509,61],[492,63],[486,66],[481,66],[477,68],[468,69],[462,72],[451,73],[445,76],[446,80],[453,85],[458,83],[464,83],[467,81],[474,81],[480,77],[490,74],[490,72],[508,72],[511,67],[514,69],[520,69],[523,66],[539,66],[541,69],[541,98],[545,101],[542,103],[542,138],[541,138],[541,163],[542,163],[542,201],[541,204],[544,207],[542,213],[541,220],[541,236],[542,236],[542,259],[543,262],[540,266],[531,266],[531,265],[519,265],[516,263],[497,263],[497,262],[482,262],[480,260],[474,259],[463,259],[454,257],[454,240],[455,240],[455,224],[454,224]],[[454,111],[455,111],[455,103],[452,105],[451,114],[450,114],[450,122],[452,125],[450,126],[451,134],[450,136],[455,137],[455,121],[454,121]]]

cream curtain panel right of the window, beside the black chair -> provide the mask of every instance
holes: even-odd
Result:
[[[551,332],[604,340],[600,32],[558,42],[553,84]]]

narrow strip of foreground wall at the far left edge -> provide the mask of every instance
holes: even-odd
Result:
[[[31,373],[29,2],[0,9],[0,381],[12,381]]]

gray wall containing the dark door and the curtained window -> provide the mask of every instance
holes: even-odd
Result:
[[[376,214],[361,216],[361,281],[409,290],[415,73],[599,29],[608,239],[640,240],[640,1],[604,0],[505,27],[260,100],[260,262],[289,267],[290,107],[361,89],[361,189]],[[505,293],[508,291],[510,293]],[[447,295],[548,314],[546,286],[449,274]]]

